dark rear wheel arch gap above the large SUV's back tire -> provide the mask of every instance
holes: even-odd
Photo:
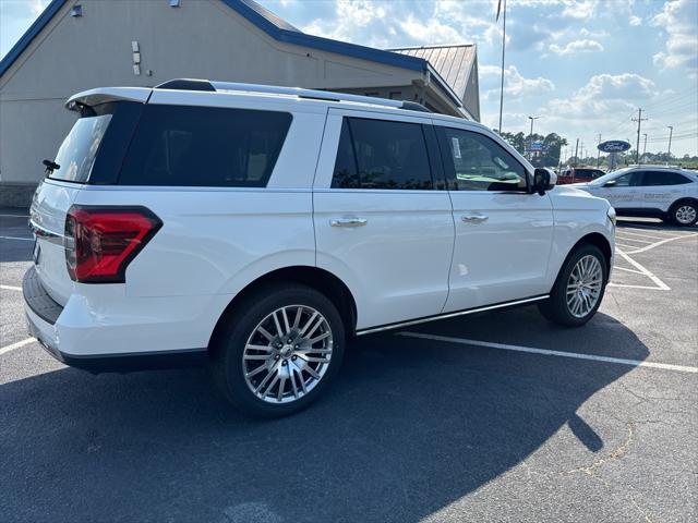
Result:
[[[321,269],[318,267],[297,265],[266,272],[248,283],[240,292],[238,292],[216,321],[208,346],[210,348],[214,345],[214,341],[225,323],[225,318],[236,308],[236,306],[262,287],[281,282],[302,283],[323,293],[339,311],[339,316],[345,325],[345,331],[347,335],[353,336],[357,327],[357,302],[347,284],[328,270]]]

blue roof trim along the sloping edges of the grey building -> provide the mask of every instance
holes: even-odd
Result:
[[[20,56],[32,44],[34,38],[46,27],[53,16],[71,0],[51,0],[47,8],[22,35],[17,42],[0,61],[0,76],[20,58]],[[357,44],[348,44],[346,41],[333,40],[321,36],[313,36],[301,32],[288,22],[284,21],[276,14],[263,8],[254,0],[220,0],[224,4],[236,11],[250,23],[254,24],[258,29],[263,31],[277,41],[293,44],[297,46],[310,47],[327,52],[335,52],[346,57],[358,58],[371,62],[383,63],[396,68],[408,69],[411,71],[431,71],[433,66],[429,61],[419,56],[409,53],[392,52],[373,47],[359,46]],[[445,82],[440,74],[433,75],[435,82],[442,90],[448,96],[457,107],[461,107],[461,99],[454,93],[450,85]]]

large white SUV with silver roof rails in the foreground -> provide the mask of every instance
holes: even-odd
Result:
[[[29,329],[93,372],[208,361],[245,413],[304,408],[349,337],[538,303],[578,326],[607,202],[412,102],[180,80],[72,97],[36,191]]]

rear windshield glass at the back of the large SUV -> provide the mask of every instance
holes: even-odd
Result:
[[[56,155],[56,163],[60,167],[55,169],[48,178],[85,183],[110,121],[111,114],[77,120]]]

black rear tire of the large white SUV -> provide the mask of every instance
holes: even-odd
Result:
[[[312,307],[312,309],[324,316],[327,321],[330,331],[329,339],[332,339],[329,363],[324,374],[322,374],[321,379],[314,384],[312,389],[309,389],[308,393],[299,399],[292,400],[289,398],[288,403],[272,402],[272,399],[265,401],[253,392],[245,379],[245,369],[243,368],[245,345],[260,323],[267,316],[281,307],[297,305]],[[333,381],[333,378],[341,365],[345,350],[345,329],[337,307],[324,294],[310,287],[297,283],[281,283],[261,288],[253,294],[246,296],[243,302],[239,303],[234,307],[234,311],[230,311],[229,314],[222,318],[222,327],[218,330],[215,340],[212,342],[212,374],[224,397],[248,416],[273,418],[287,416],[305,409],[321,396]],[[289,323],[291,323],[291,320],[289,320]],[[284,327],[282,330],[285,330]],[[275,332],[275,336],[278,335]],[[278,353],[273,357],[279,360],[279,355],[282,355],[282,353],[281,350],[277,351],[275,349],[276,346],[276,343],[269,341],[269,349]],[[290,348],[291,345],[284,346]],[[284,362],[285,357],[288,357],[286,362]],[[284,363],[286,368],[289,369],[291,365],[296,365],[296,363],[291,362],[291,356],[287,354],[285,357],[281,357],[281,361],[278,363]],[[300,358],[301,356],[298,357]],[[293,362],[296,361],[297,358],[293,357]],[[301,360],[298,361],[300,362]],[[264,364],[274,365],[275,362],[267,360]],[[293,374],[292,370],[291,374]],[[265,370],[262,370],[261,378],[257,379],[262,379],[265,375]],[[296,386],[298,380],[302,379],[303,372],[300,373],[301,378],[299,378],[297,374],[293,374],[293,376],[296,381],[293,385]],[[306,376],[310,375],[306,374]],[[272,378],[270,381],[274,381],[274,379],[275,378]],[[290,378],[287,379],[287,381],[289,381],[289,384],[285,386],[284,390],[289,389],[290,393]],[[277,384],[279,382],[277,381]],[[257,384],[253,384],[253,386],[254,385]],[[300,386],[300,382],[298,382],[298,385]],[[276,386],[276,390],[278,389],[279,385]]]

